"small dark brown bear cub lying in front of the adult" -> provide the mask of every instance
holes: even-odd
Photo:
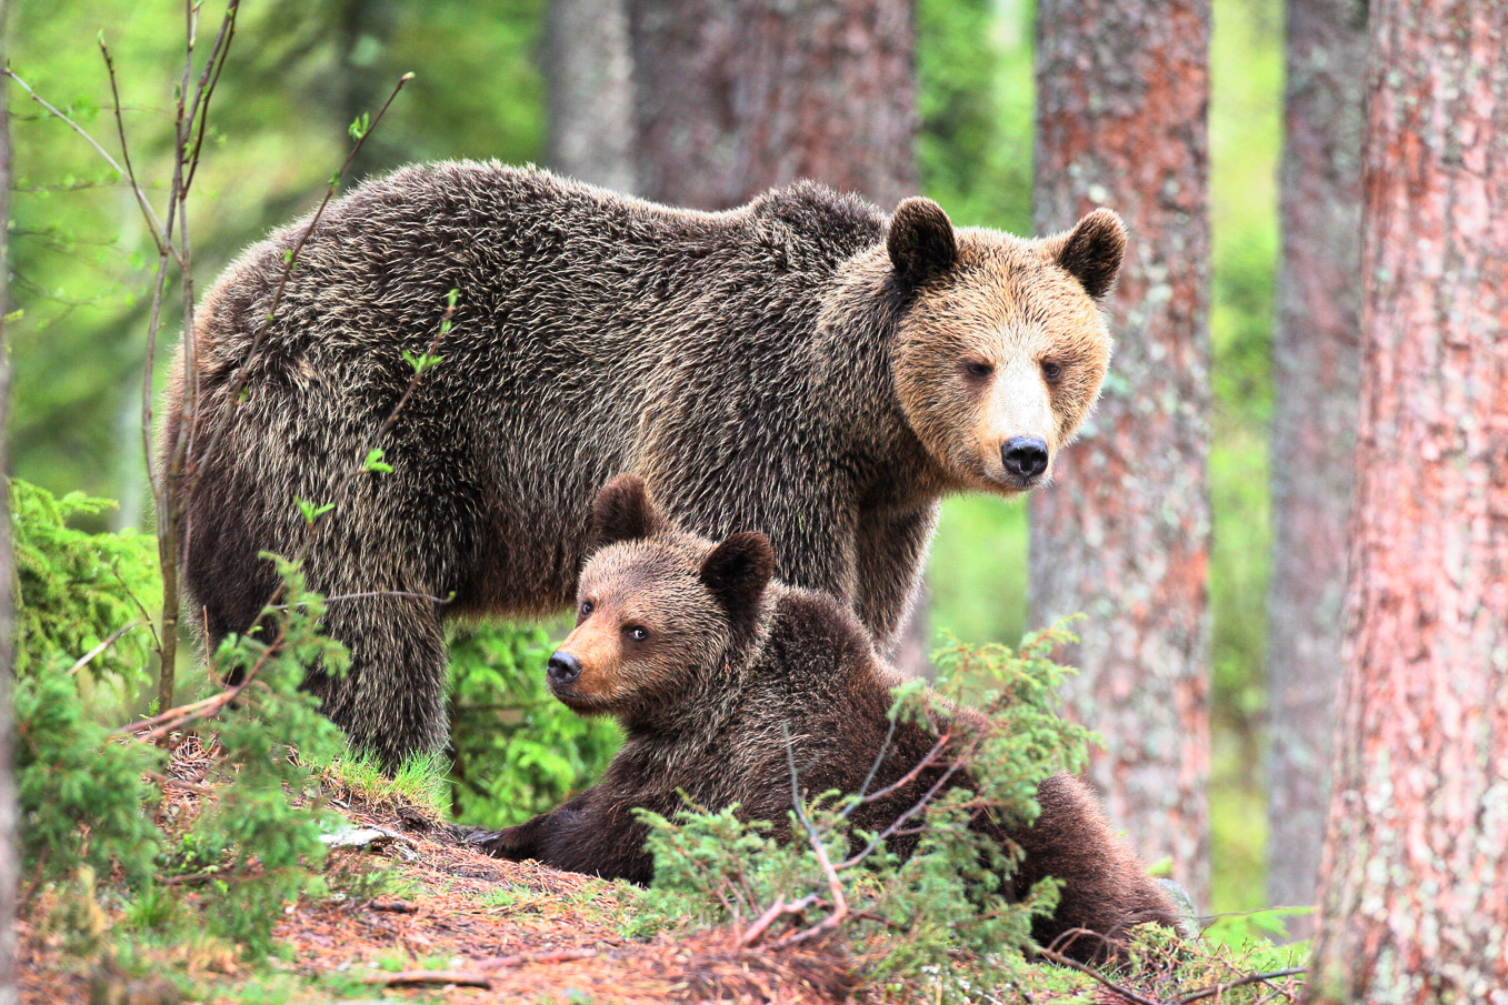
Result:
[[[748,818],[786,832],[792,794],[783,726],[808,793],[860,791],[888,750],[870,788],[882,791],[936,744],[933,729],[897,723],[887,747],[899,675],[844,606],[771,582],[763,535],[736,533],[713,545],[676,532],[632,476],[603,490],[597,527],[608,547],[582,571],[578,625],[552,657],[549,678],[572,708],[618,719],[627,740],[596,787],[526,824],[477,838],[493,854],[647,883],[653,862],[633,808],[668,817],[685,806],[685,793],[707,808],[737,803]],[[854,823],[885,829],[944,771],[946,764],[927,768],[861,808]],[[970,787],[968,773],[950,785]],[[1045,875],[1065,881],[1057,913],[1036,924],[1039,942],[1074,928],[1113,940],[1142,922],[1175,925],[1173,904],[1081,782],[1057,774],[1042,784],[1039,800],[1031,827],[983,817],[977,824],[1025,851],[1015,894]],[[906,854],[915,841],[902,836],[890,847]],[[1105,948],[1090,937],[1066,951],[1089,958]]]

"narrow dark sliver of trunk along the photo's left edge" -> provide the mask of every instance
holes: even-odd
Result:
[[[0,0],[0,66],[8,60],[6,15],[9,5]],[[9,93],[0,80],[0,475],[9,476],[8,422],[11,402],[11,348],[6,341],[5,316],[11,310],[8,283],[11,277],[11,122]],[[11,595],[15,567],[11,557],[11,490],[0,479],[0,1005],[17,1000],[15,972],[15,898],[21,871],[21,850],[17,844],[17,803],[14,761],[11,758],[11,677],[15,672],[15,612]]]

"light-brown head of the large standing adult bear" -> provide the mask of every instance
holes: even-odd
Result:
[[[1099,396],[1111,342],[1098,298],[1123,247],[1108,209],[1045,241],[953,231],[926,200],[896,211],[890,256],[908,297],[896,390],[961,485],[1015,494],[1051,476]]]

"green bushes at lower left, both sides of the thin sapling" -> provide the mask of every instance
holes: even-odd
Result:
[[[145,652],[109,649],[87,675],[66,672],[65,663],[65,646],[87,645],[107,636],[116,618],[137,613],[125,591],[149,583],[151,548],[140,535],[87,535],[63,523],[109,505],[103,500],[54,500],[20,482],[12,497],[24,583],[18,616],[27,625],[29,655],[14,689],[26,874],[72,890],[57,909],[71,931],[83,931],[84,921],[89,931],[98,928],[95,901],[106,894],[103,877],[110,877],[107,889],[125,898],[131,928],[187,924],[244,952],[265,952],[282,904],[318,883],[324,857],[318,776],[302,758],[329,764],[344,749],[317,699],[299,689],[305,666],[338,674],[347,661],[345,649],[320,634],[323,598],[305,588],[296,564],[277,559],[285,603],[267,609],[267,627],[226,639],[213,660],[217,680],[243,683],[176,711],[178,728],[202,716],[213,729],[205,741],[213,768],[201,812],[169,842],[151,812],[160,791],[148,782],[163,752],[112,735],[90,699],[103,683],[140,684]],[[118,567],[125,574],[106,577],[104,570]],[[210,884],[217,894],[213,909],[175,910],[160,884],[163,871]]]

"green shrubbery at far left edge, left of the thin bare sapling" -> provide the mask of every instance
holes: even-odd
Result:
[[[139,533],[86,533],[71,517],[113,503],[62,499],[11,481],[17,571],[17,651],[12,701],[21,854],[27,875],[69,880],[80,869],[128,883],[152,869],[160,835],[143,808],[155,791],[142,773],[158,752],[109,735],[148,683],[151,636],[121,636],[87,667],[78,657],[142,618],[139,597],[157,592],[155,541]]]

